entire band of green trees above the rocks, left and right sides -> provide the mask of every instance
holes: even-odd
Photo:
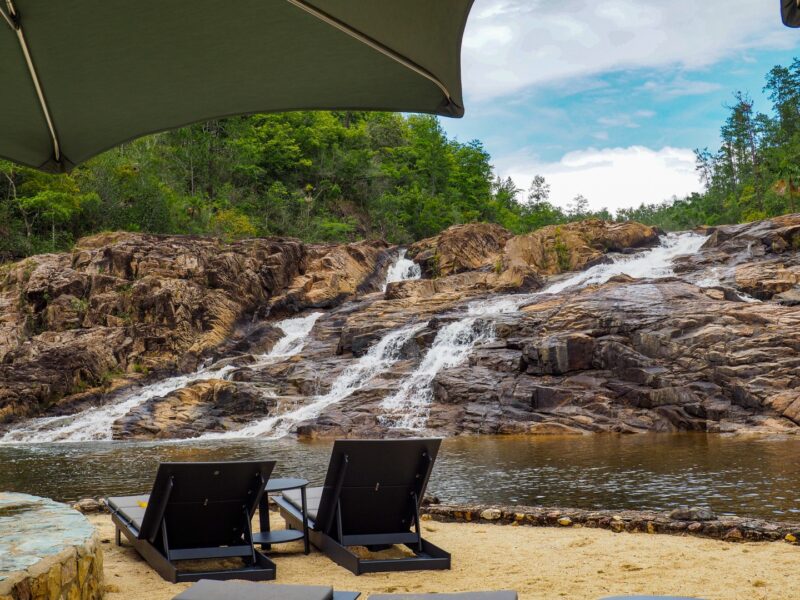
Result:
[[[697,151],[703,193],[616,218],[675,230],[796,211],[800,60],[774,67],[765,91],[771,114],[737,93],[720,148]],[[611,218],[591,212],[583,196],[561,209],[549,194],[536,176],[522,197],[511,179],[495,176],[480,142],[449,139],[434,117],[252,115],[142,138],[68,175],[0,161],[0,261],[67,249],[103,230],[408,243],[469,221],[523,233]]]

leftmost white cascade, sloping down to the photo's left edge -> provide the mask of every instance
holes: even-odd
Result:
[[[283,360],[299,353],[308,334],[322,313],[286,319],[276,326],[284,332],[272,350],[259,357],[256,364]],[[0,438],[0,443],[86,442],[110,440],[114,421],[152,398],[165,396],[201,379],[224,379],[236,367],[202,368],[189,375],[169,377],[142,388],[131,390],[112,403],[90,407],[74,415],[31,419]]]

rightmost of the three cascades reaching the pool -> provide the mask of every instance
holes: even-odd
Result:
[[[390,428],[423,429],[433,401],[431,383],[442,369],[464,362],[478,345],[494,339],[493,317],[516,312],[529,296],[504,296],[489,303],[473,302],[467,315],[442,327],[417,369],[381,403],[380,422]]]

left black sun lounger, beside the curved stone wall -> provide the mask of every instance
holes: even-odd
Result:
[[[164,579],[275,579],[253,546],[250,522],[274,461],[161,463],[149,496],[108,498],[117,544],[124,534]],[[180,561],[236,560],[230,568],[179,570]]]

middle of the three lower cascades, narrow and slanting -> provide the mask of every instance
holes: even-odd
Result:
[[[251,423],[246,427],[226,433],[210,433],[200,439],[243,438],[268,436],[272,439],[280,438],[289,433],[297,423],[313,419],[333,404],[338,404],[354,392],[363,388],[376,375],[385,372],[401,358],[403,346],[411,340],[424,323],[408,325],[387,333],[369,351],[359,358],[355,364],[347,367],[331,384],[326,394],[314,396],[311,400],[278,415],[272,415],[261,421]]]

